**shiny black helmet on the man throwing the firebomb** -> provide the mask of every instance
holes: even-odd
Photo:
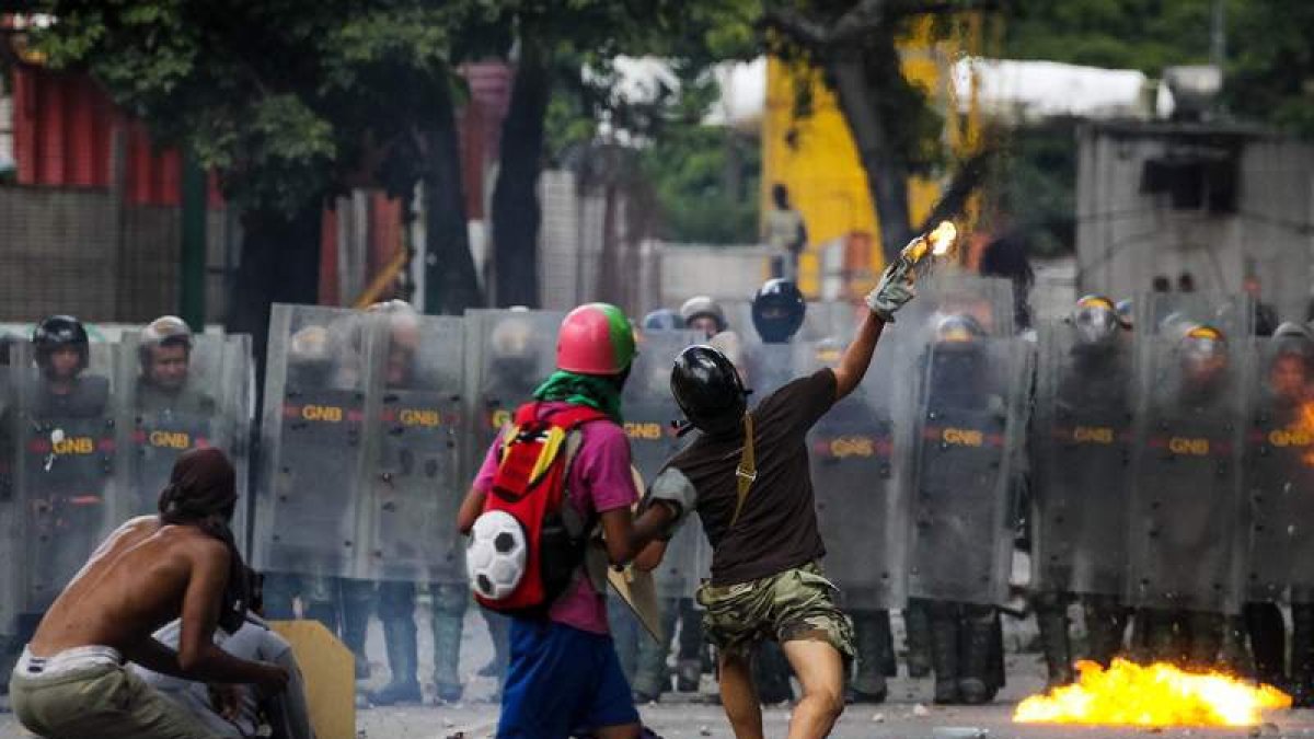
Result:
[[[708,435],[733,433],[748,410],[748,392],[735,364],[707,345],[679,352],[670,371],[670,393],[690,425]]]

